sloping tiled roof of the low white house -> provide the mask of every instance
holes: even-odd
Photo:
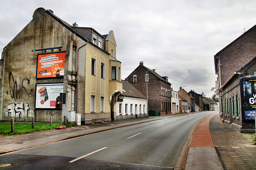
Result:
[[[123,93],[122,95],[131,98],[147,99],[143,94],[141,94],[132,84],[126,80],[122,80],[123,83]]]

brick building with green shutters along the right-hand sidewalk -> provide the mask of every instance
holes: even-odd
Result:
[[[241,133],[255,133],[254,113],[252,112],[251,117],[245,115],[246,107],[243,102],[246,95],[243,91],[246,85],[241,83],[246,77],[254,78],[251,75],[256,72],[255,56],[256,25],[214,55],[221,119]],[[252,90],[250,86],[248,92],[252,93]]]

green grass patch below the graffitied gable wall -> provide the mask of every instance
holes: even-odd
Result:
[[[61,122],[53,122],[52,126],[50,123],[34,123],[34,129],[32,129],[32,123],[18,123],[14,122],[14,131],[11,133],[11,122],[0,122],[0,135],[18,135],[22,133],[29,133],[42,130],[52,130],[58,126],[61,126]],[[70,122],[62,122],[62,126],[72,127]]]

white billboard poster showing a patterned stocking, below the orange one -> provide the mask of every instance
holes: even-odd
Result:
[[[36,84],[36,109],[60,109],[63,83]]]

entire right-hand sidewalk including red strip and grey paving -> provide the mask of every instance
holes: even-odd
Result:
[[[256,145],[252,145],[251,135],[222,123],[214,113],[194,128],[180,169],[256,170]]]

